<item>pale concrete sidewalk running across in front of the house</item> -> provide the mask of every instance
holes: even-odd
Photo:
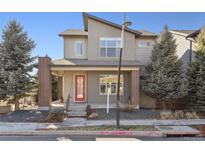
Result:
[[[102,126],[115,125],[115,120],[86,120],[84,118],[70,118],[62,123],[7,123],[0,122],[1,133],[33,132],[36,130],[56,130],[60,127]],[[205,119],[192,120],[121,120],[122,126],[186,126],[205,125]]]

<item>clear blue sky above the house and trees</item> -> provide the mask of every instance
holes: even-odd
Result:
[[[91,13],[121,24],[124,13]],[[205,13],[126,13],[132,21],[131,28],[146,29],[159,33],[164,24],[170,29],[198,29],[205,24]],[[63,40],[58,36],[65,29],[82,29],[82,13],[0,13],[2,28],[11,19],[16,19],[36,42],[32,55],[49,55],[53,59],[63,57]],[[1,38],[0,38],[1,40]]]

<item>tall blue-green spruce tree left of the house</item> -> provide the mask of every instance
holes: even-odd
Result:
[[[10,21],[3,29],[1,61],[4,63],[0,76],[5,79],[6,87],[1,86],[0,91],[6,92],[9,97],[14,97],[17,110],[18,99],[31,91],[34,86],[33,77],[30,75],[34,67],[35,57],[31,57],[34,47],[34,41],[15,20]]]

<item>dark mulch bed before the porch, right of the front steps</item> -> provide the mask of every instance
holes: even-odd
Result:
[[[107,114],[106,109],[95,109],[98,117],[93,120],[114,120],[116,119],[116,110],[110,109]],[[158,110],[133,110],[130,112],[120,111],[120,119],[122,120],[134,120],[134,119],[158,119],[160,111]]]

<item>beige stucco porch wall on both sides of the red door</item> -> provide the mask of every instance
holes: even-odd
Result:
[[[100,95],[99,78],[100,75],[104,74],[116,74],[116,71],[87,71],[87,72],[73,72],[65,71],[63,75],[63,98],[66,101],[68,94],[70,94],[71,102],[75,102],[74,94],[74,74],[85,74],[86,75],[86,102],[89,104],[105,104],[106,95]],[[127,103],[130,96],[130,72],[123,72],[124,77],[124,94],[121,95],[122,103]],[[116,95],[110,96],[110,103],[116,102]]]

